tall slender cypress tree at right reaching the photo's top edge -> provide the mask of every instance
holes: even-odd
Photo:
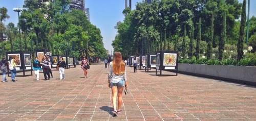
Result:
[[[241,13],[241,24],[238,39],[238,60],[243,57],[244,39],[245,39],[245,22],[246,22],[246,0],[243,1],[242,13]]]

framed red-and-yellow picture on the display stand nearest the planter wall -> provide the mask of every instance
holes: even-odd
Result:
[[[176,53],[164,53],[163,54],[163,65],[167,66],[176,66],[177,62],[177,54]]]

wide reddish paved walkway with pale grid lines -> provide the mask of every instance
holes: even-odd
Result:
[[[128,94],[113,117],[108,68],[93,64],[83,78],[80,66],[65,69],[65,80],[35,75],[0,83],[0,120],[256,120],[256,87],[126,66]],[[29,74],[29,72],[26,72]],[[163,71],[165,75],[173,72]],[[17,75],[22,75],[18,73]],[[2,79],[3,76],[0,76]]]

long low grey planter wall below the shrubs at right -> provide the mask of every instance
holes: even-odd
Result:
[[[179,63],[178,72],[256,86],[256,67]]]

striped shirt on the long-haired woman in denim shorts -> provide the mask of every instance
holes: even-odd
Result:
[[[113,67],[112,67],[112,62],[110,62],[110,67],[109,67],[109,80],[112,82],[112,83],[118,83],[120,80],[124,80],[126,81],[127,80],[127,77],[126,77],[126,69],[124,70],[124,73],[122,74],[115,74],[114,71],[113,71]]]

